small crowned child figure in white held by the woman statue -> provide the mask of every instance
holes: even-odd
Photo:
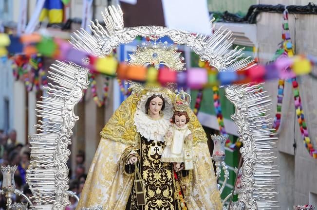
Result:
[[[178,101],[174,104],[175,112],[171,120],[172,125],[164,137],[165,148],[162,153],[161,161],[172,162],[175,171],[182,170],[184,168],[183,163],[185,163],[186,170],[190,170],[193,167],[192,161],[191,164],[186,164],[186,162],[190,162],[190,160],[188,161],[188,158],[186,158],[186,154],[188,151],[191,151],[192,144],[192,135],[187,127],[187,123],[189,122],[187,107],[186,103],[182,101]]]

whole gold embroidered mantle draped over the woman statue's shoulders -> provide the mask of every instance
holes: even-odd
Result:
[[[171,92],[166,91],[166,94],[174,98]],[[102,138],[89,169],[77,210],[97,206],[103,207],[103,210],[126,208],[134,175],[125,172],[124,160],[131,150],[139,149],[140,135],[136,132],[131,117],[139,100],[140,95],[137,94],[128,97],[103,128]],[[221,210],[220,194],[205,132],[195,114],[190,109],[187,113],[190,118],[188,128],[193,135],[195,157],[192,190],[187,208],[188,210]],[[157,199],[156,202],[159,200]]]

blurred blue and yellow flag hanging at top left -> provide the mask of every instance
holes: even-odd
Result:
[[[63,7],[62,0],[45,0],[39,21],[42,22],[48,18],[49,23],[61,23],[63,21]]]

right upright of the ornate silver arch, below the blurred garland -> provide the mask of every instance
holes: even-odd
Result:
[[[280,208],[275,201],[275,187],[279,171],[274,164],[273,148],[276,148],[276,134],[269,126],[273,119],[265,115],[272,105],[271,99],[260,85],[228,86],[226,97],[235,106],[231,116],[238,126],[238,134],[243,147],[242,189],[238,192],[239,201],[231,209],[244,206],[245,210],[268,210]]]

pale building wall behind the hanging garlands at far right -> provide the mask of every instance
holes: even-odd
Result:
[[[261,0],[262,4],[307,5],[309,0]],[[296,54],[317,55],[316,23],[317,15],[289,14],[291,39]],[[281,41],[282,14],[261,13],[257,22],[257,42],[259,45],[260,63],[269,61]],[[268,31],[269,29],[269,31]],[[317,68],[313,69],[317,73]],[[317,147],[317,81],[312,77],[298,77],[299,93],[303,105],[305,121],[309,136]],[[271,116],[275,116],[278,81],[265,84],[265,89],[273,99]],[[293,205],[317,205],[317,160],[310,157],[301,138],[294,106],[292,84],[285,82],[282,105],[282,122],[279,129],[277,164],[280,167],[280,201],[281,209],[292,209]],[[293,144],[296,146],[294,147]]]

